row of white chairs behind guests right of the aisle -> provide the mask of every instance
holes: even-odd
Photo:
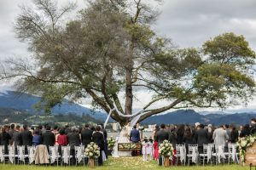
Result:
[[[189,153],[186,153],[187,150]],[[176,165],[178,163],[182,165],[201,163],[203,166],[205,163],[212,165],[212,162],[216,164],[224,162],[228,164],[231,162],[239,163],[236,144],[228,144],[227,151],[225,151],[224,145],[203,144],[203,153],[201,154],[198,151],[198,144],[188,144],[188,149],[186,149],[185,144],[176,144],[176,151],[177,153],[170,157],[171,160],[175,160]]]

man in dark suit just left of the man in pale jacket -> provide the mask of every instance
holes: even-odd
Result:
[[[200,124],[195,131],[195,142],[198,144],[198,152],[203,153],[203,144],[209,143],[209,133],[207,129],[204,128],[203,124]]]

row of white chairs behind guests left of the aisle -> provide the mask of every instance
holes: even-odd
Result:
[[[39,147],[38,145],[37,147]],[[73,156],[70,153],[70,146],[61,146],[61,155],[58,150],[59,146],[49,146],[49,153],[48,159],[50,164],[55,164],[58,166],[59,163],[62,165],[69,165],[71,164],[71,160]],[[90,159],[88,156],[84,155],[84,145],[75,146],[74,148],[75,154],[75,164],[78,165],[81,161],[88,164]],[[36,155],[36,146],[27,146],[27,154],[25,153],[25,146],[17,146],[15,151],[14,145],[8,146],[9,154],[5,154],[4,146],[0,145],[0,162],[2,163],[13,163],[13,164],[20,164],[20,163],[28,163],[32,164],[35,163],[35,155]],[[16,153],[15,153],[16,152]],[[98,166],[98,157],[95,157],[96,166]]]

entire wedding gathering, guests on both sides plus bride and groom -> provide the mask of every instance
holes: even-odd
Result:
[[[143,142],[143,138],[140,136],[139,126],[135,125],[131,127],[130,132],[127,131],[129,126],[124,128],[123,138],[119,136],[117,143],[124,141],[139,143]],[[238,127],[239,128],[239,127]],[[195,126],[191,125],[156,125],[154,133],[150,140],[154,143],[154,159],[160,159],[158,147],[164,140],[168,140],[175,149],[176,144],[198,144],[199,153],[203,153],[203,144],[218,144],[226,145],[228,143],[236,143],[239,137],[245,137],[256,133],[256,119],[251,120],[251,124],[241,126],[238,129],[232,125],[222,125],[214,127],[211,124],[203,125],[199,122],[195,123]],[[99,165],[102,165],[102,153],[108,158],[108,134],[102,127],[102,124],[96,127],[86,124],[84,127],[50,127],[49,125],[38,127],[27,127],[23,125],[11,124],[10,126],[0,127],[0,144],[4,145],[5,154],[9,154],[8,145],[15,145],[15,151],[17,152],[18,145],[25,146],[25,152],[27,153],[27,146],[37,146],[38,144],[44,144],[48,147],[58,145],[61,155],[61,146],[70,145],[70,154],[75,155],[75,146],[83,144],[84,147],[90,142],[95,142],[101,149],[101,156],[99,157]],[[125,139],[124,139],[125,138]],[[127,138],[127,139],[126,139]],[[154,141],[153,141],[154,140]],[[174,150],[175,151],[175,150]],[[121,156],[121,152],[115,150],[114,156]],[[137,156],[138,152],[128,153],[124,156]],[[74,162],[74,160],[73,160]],[[160,162],[160,161],[159,161]]]

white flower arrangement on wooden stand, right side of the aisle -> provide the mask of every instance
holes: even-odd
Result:
[[[160,156],[164,156],[164,166],[169,167],[169,158],[173,156],[173,147],[172,144],[168,140],[164,140],[162,144],[159,146],[159,154]]]

